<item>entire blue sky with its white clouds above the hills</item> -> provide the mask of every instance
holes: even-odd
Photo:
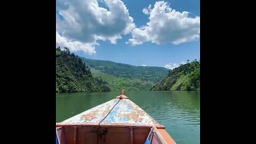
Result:
[[[56,46],[89,59],[172,69],[200,58],[199,7],[198,0],[57,0]]]

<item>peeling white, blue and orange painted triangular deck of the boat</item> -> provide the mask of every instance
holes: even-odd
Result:
[[[99,123],[119,99],[113,99],[84,111],[61,123]],[[120,100],[102,124],[159,125],[151,116],[129,99]]]

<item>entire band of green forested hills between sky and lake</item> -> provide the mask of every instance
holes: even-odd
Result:
[[[70,54],[66,47],[63,51],[60,47],[56,49],[56,92],[122,89],[200,90],[200,62],[195,60],[169,70],[163,67],[132,66],[106,60],[86,59],[74,53]]]

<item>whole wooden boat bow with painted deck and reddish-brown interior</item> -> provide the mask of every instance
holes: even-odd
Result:
[[[174,144],[144,110],[124,95],[56,123],[61,144]],[[150,136],[151,135],[151,136]],[[147,141],[146,141],[147,140]]]

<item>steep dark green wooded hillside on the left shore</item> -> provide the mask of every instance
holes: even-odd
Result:
[[[110,91],[107,82],[95,79],[81,58],[65,47],[56,49],[56,92]]]

